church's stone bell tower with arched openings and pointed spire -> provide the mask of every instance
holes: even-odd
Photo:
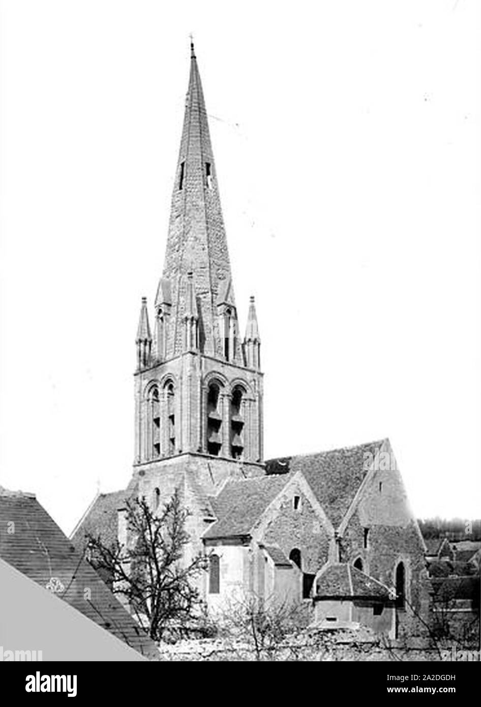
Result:
[[[245,337],[239,336],[192,44],[165,264],[151,321],[152,327],[143,298],[135,373],[138,493],[158,503],[180,486],[190,510],[209,516],[206,497],[225,478],[263,473],[263,374],[254,298]]]

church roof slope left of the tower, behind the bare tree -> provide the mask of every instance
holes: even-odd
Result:
[[[99,493],[93,505],[71,534],[71,542],[79,551],[85,548],[85,534],[100,536],[105,545],[111,546],[117,540],[117,510],[124,506],[128,491]]]

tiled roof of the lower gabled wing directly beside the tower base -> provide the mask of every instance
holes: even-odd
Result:
[[[203,537],[248,535],[289,479],[283,475],[227,481],[218,496],[210,497],[218,520],[208,527]]]

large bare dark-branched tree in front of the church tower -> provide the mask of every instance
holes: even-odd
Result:
[[[202,600],[192,584],[206,570],[207,557],[186,560],[190,542],[185,530],[189,510],[182,508],[179,490],[158,515],[145,498],[126,503],[131,540],[111,546],[87,534],[93,565],[112,578],[112,590],[122,595],[151,638],[159,641],[167,626],[182,625],[201,614]]]

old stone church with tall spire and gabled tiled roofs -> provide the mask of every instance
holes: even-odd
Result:
[[[153,308],[141,302],[136,355],[131,481],[97,494],[78,549],[86,532],[125,543],[126,499],[155,510],[179,489],[189,553],[209,555],[199,581],[213,612],[254,592],[309,602],[319,626],[413,630],[426,548],[389,440],[263,457],[256,306],[242,337],[193,44],[164,268]]]

